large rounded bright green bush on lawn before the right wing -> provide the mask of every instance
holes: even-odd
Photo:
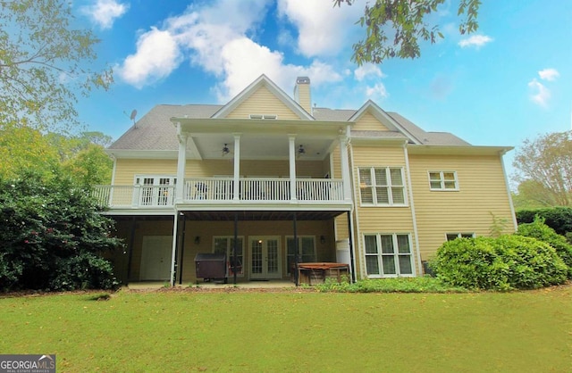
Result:
[[[515,235],[448,241],[431,265],[443,282],[471,289],[534,289],[562,284],[568,274],[550,245]]]

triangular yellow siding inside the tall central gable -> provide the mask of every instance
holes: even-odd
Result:
[[[258,88],[226,118],[248,119],[250,114],[275,114],[278,116],[278,120],[299,120],[299,116],[266,87]]]

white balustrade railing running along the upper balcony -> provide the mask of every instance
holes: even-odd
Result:
[[[175,186],[97,186],[94,196],[102,206],[114,209],[168,209],[178,205],[235,206],[269,204],[339,205],[347,203],[341,179],[298,178],[290,193],[288,178],[240,178],[235,195],[232,178],[186,178],[183,199],[176,201]]]

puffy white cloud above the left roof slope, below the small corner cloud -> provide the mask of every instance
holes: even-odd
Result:
[[[172,34],[152,28],[139,37],[137,52],[115,70],[124,81],[141,88],[168,76],[180,63],[181,51]]]

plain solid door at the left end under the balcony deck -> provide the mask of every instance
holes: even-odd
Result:
[[[141,281],[169,281],[171,276],[172,236],[143,236]]]

